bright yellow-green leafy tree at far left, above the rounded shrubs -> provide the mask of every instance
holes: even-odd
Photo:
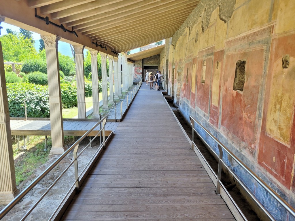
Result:
[[[5,34],[0,37],[3,58],[6,61],[20,62],[28,58],[37,58],[37,51],[30,39],[20,33]]]

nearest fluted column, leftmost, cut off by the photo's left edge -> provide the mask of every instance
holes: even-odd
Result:
[[[4,21],[4,17],[2,18]],[[15,183],[4,60],[0,42],[0,204],[8,204],[18,193]]]

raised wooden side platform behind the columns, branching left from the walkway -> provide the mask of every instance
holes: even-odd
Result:
[[[33,119],[28,120],[12,118],[10,120],[12,135],[30,135],[30,136],[50,136],[50,120],[48,119]],[[64,136],[82,136],[91,129],[98,121],[94,119],[67,119],[63,121]],[[109,136],[112,130],[115,130],[119,122],[106,123],[106,136]],[[97,126],[89,136],[95,136],[100,131],[100,126]]]

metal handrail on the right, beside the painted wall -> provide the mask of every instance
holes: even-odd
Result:
[[[255,196],[248,190],[248,188],[242,183],[239,177],[235,175],[235,173],[225,164],[225,162],[222,159],[223,156],[223,150],[227,152],[247,173],[255,179],[269,194],[271,194],[272,197],[274,197],[293,217],[295,217],[295,210],[291,205],[286,202],[280,195],[278,195],[271,187],[269,187],[266,182],[264,182],[260,177],[258,177],[248,166],[246,166],[235,154],[233,154],[227,147],[225,147],[216,137],[214,137],[209,131],[207,131],[206,128],[204,128],[196,119],[194,119],[192,116],[189,116],[191,125],[192,125],[192,142],[191,142],[191,147],[193,150],[193,146],[196,146],[194,143],[194,131],[199,135],[199,133],[196,131],[194,128],[194,124],[197,123],[198,126],[200,126],[217,144],[218,144],[218,149],[219,149],[219,161],[218,161],[218,171],[217,171],[217,184],[216,184],[216,192],[219,194],[220,190],[220,184],[221,182],[221,169],[222,165],[226,166],[230,172],[234,175],[236,180],[242,185],[242,187],[245,188],[245,190],[250,194],[250,196],[253,198],[253,200],[258,204],[258,206],[266,212],[266,215],[271,219],[274,220],[272,215],[263,207],[263,205],[255,198]],[[200,135],[199,135],[200,136]],[[209,146],[210,147],[210,146]],[[196,146],[198,149],[198,147]],[[211,147],[210,147],[211,148]],[[211,148],[212,149],[212,148]],[[213,149],[212,149],[213,150]],[[216,154],[217,155],[217,154]],[[218,156],[218,155],[217,155]],[[209,164],[208,164],[209,165]]]

